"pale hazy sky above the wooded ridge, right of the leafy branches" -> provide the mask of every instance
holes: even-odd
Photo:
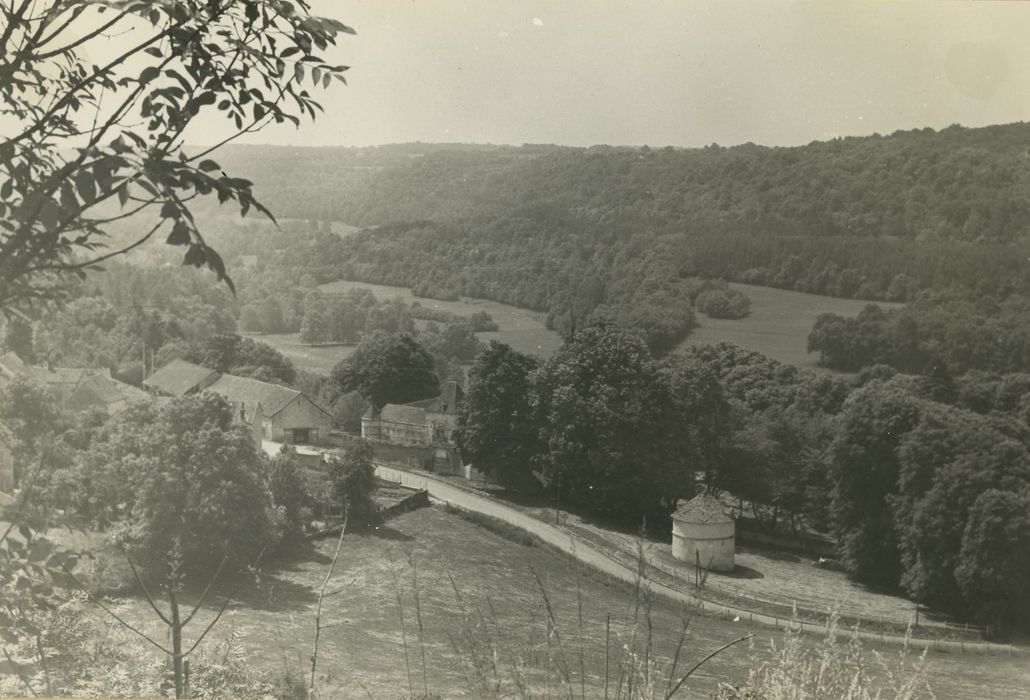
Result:
[[[799,144],[1030,119],[1030,2],[314,0],[357,30],[251,142]]]

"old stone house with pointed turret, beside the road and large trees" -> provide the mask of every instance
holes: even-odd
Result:
[[[436,398],[387,404],[378,411],[370,408],[362,416],[362,437],[406,448],[411,458],[435,471],[461,474],[461,459],[451,435],[457,429],[458,408],[464,397],[461,386],[448,382]]]

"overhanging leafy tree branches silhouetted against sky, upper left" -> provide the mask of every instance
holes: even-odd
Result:
[[[184,265],[232,288],[193,203],[274,217],[208,155],[314,118],[311,91],[346,82],[347,66],[323,54],[353,30],[306,0],[13,0],[0,18],[0,125],[11,135],[0,142],[0,310],[59,300],[70,275],[161,231],[185,248]],[[209,113],[229,135],[187,148],[187,128]],[[105,250],[106,223],[151,206],[152,229]]]

